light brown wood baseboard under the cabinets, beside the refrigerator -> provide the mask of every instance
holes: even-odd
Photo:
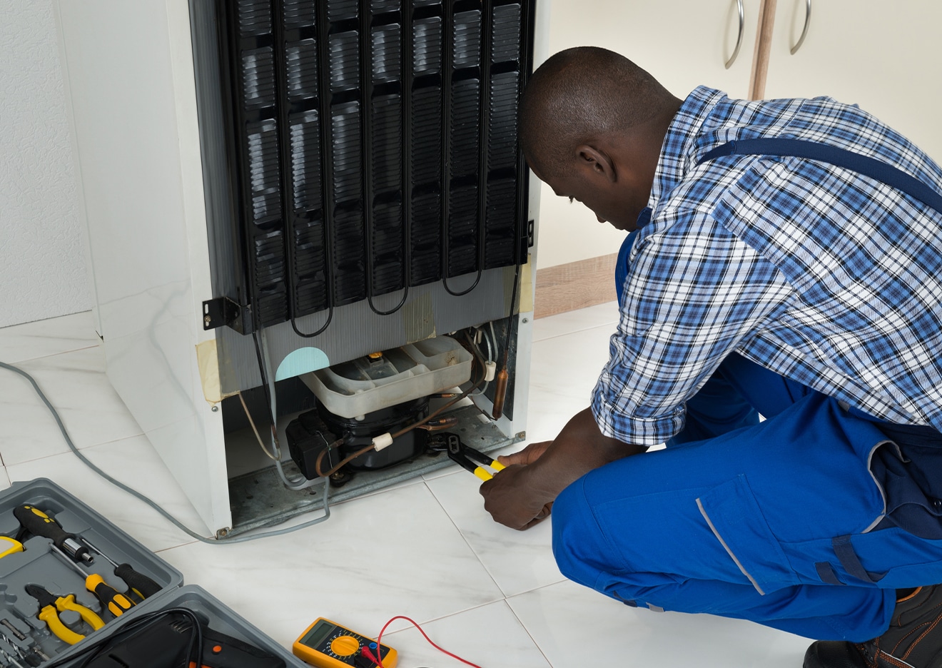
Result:
[[[545,318],[597,303],[615,301],[618,253],[536,270],[533,318]]]

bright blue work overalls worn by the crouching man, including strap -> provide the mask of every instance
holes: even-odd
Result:
[[[870,158],[793,140],[730,144],[705,159],[810,157],[942,210],[937,193]],[[633,240],[619,253],[620,299]],[[929,427],[885,423],[734,353],[667,445],[560,494],[553,551],[566,577],[631,606],[852,642],[886,630],[897,588],[942,582],[942,434]]]

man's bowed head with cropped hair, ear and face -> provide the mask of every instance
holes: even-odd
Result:
[[[558,195],[630,230],[647,204],[679,106],[627,58],[592,46],[567,49],[530,77],[520,142],[531,169]]]

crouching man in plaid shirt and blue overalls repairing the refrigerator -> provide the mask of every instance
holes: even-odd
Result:
[[[591,407],[485,508],[552,509],[563,574],[627,605],[817,639],[809,668],[942,666],[942,170],[855,106],[681,101],[588,47],[533,74],[520,140],[633,234]]]

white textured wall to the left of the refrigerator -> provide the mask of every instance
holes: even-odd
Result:
[[[91,307],[51,0],[0,0],[0,327]]]

